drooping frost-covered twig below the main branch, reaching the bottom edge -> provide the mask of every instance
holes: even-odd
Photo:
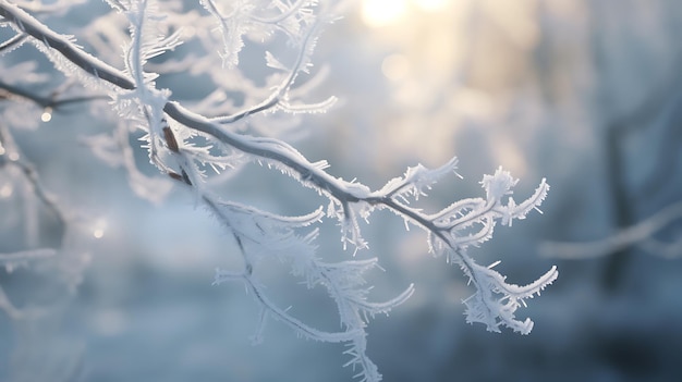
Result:
[[[358,375],[364,381],[378,381],[380,374],[374,362],[366,355],[367,333],[365,326],[377,313],[388,313],[398,305],[404,303],[414,292],[410,285],[399,296],[383,303],[367,301],[369,289],[363,273],[377,267],[378,260],[349,260],[338,263],[327,263],[315,255],[313,239],[316,231],[305,237],[296,237],[295,227],[307,226],[322,218],[321,210],[305,217],[278,217],[268,212],[255,210],[232,202],[222,202],[210,197],[204,200],[210,211],[232,232],[238,242],[245,269],[242,272],[224,270],[216,271],[215,283],[241,280],[254,294],[254,298],[261,309],[261,323],[253,336],[256,341],[263,337],[264,320],[271,317],[281,321],[305,338],[324,342],[343,342],[349,344],[345,352],[352,359],[346,365],[360,369]],[[330,297],[336,301],[343,332],[330,333],[308,326],[287,311],[277,308],[258,286],[253,270],[258,262],[279,258],[280,261],[291,263],[292,273],[305,279],[308,288],[322,285]]]

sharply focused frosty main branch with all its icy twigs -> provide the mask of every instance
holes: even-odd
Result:
[[[263,134],[264,130],[257,128],[258,118],[267,116],[268,124],[275,126],[285,118],[325,112],[334,103],[333,97],[308,102],[305,96],[319,83],[310,63],[317,38],[324,26],[338,17],[334,12],[343,1],[200,0],[191,12],[183,2],[172,0],[108,2],[120,17],[102,19],[101,27],[126,28],[121,35],[125,40],[121,70],[107,62],[103,52],[101,59],[90,56],[74,38],[57,34],[7,0],[0,0],[0,16],[21,36],[15,38],[16,44],[31,38],[58,69],[74,78],[86,78],[78,81],[108,95],[110,107],[118,113],[115,130],[83,139],[98,158],[126,169],[135,192],[150,200],[161,199],[172,182],[187,188],[196,205],[229,233],[243,267],[218,269],[214,282],[242,283],[253,295],[260,309],[255,342],[263,340],[269,321],[279,321],[302,337],[345,344],[344,354],[350,358],[346,365],[356,371],[356,377],[362,381],[381,380],[377,366],[367,356],[367,324],[376,315],[388,313],[404,303],[415,286],[406,285],[389,300],[372,301],[368,273],[378,268],[379,260],[351,258],[327,262],[317,255],[315,245],[319,224],[329,219],[340,226],[343,248],[367,249],[362,223],[377,209],[393,212],[407,227],[424,230],[428,249],[460,266],[475,289],[464,300],[467,322],[484,323],[495,332],[501,326],[524,334],[532,330],[533,322],[517,320],[516,310],[556,280],[557,269],[552,267],[535,282],[519,286],[508,283],[494,270],[495,264],[477,264],[468,249],[488,241],[498,223],[512,225],[513,220],[525,219],[538,209],[549,189],[545,180],[533,195],[517,202],[512,195],[519,181],[500,168],[483,177],[485,198],[461,199],[429,213],[413,204],[427,197],[430,187],[443,176],[456,174],[455,158],[437,169],[421,164],[410,168],[404,175],[373,190],[332,176],[326,161],[310,162],[277,133]],[[209,30],[200,30],[206,25]],[[195,30],[187,37],[182,30],[188,26]],[[289,54],[264,51],[264,67],[270,70],[264,86],[251,81],[240,64],[240,53],[249,36],[287,40]],[[220,41],[216,41],[217,37]],[[102,44],[98,40],[94,45]],[[196,48],[191,54],[198,51],[205,56],[163,60],[168,51],[185,44]],[[171,89],[158,87],[157,79],[183,71],[206,75],[216,89],[203,101],[181,104],[172,98]],[[230,100],[235,93],[243,96],[239,107]],[[130,136],[139,131],[141,145],[163,175],[162,181],[142,175],[132,160]],[[228,200],[212,187],[211,180],[238,173],[249,162],[292,177],[302,187],[324,196],[325,206],[300,217],[285,217]],[[16,261],[32,261],[48,254],[51,252],[37,250],[2,255],[0,264],[14,267]],[[287,264],[292,276],[307,287],[327,291],[337,307],[339,331],[314,328],[271,299],[258,278],[258,269],[275,260]]]

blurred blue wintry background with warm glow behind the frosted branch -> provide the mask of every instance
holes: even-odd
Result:
[[[86,2],[48,24],[86,24],[102,9]],[[378,257],[386,270],[368,274],[370,298],[390,298],[412,282],[416,288],[368,326],[368,354],[385,380],[682,379],[679,1],[358,0],[346,11],[318,42],[315,67],[328,74],[310,94],[341,101],[302,118],[294,132],[308,159],[327,159],[334,176],[378,188],[409,165],[434,168],[456,156],[463,180],[433,189],[424,204],[433,211],[482,196],[478,182],[499,165],[521,178],[517,201],[543,177],[552,187],[543,214],[497,229],[472,250],[482,264],[502,260],[497,269],[517,284],[558,266],[559,280],[519,310],[535,321],[527,336],[466,324],[461,301],[473,289],[461,271],[427,254],[424,233],[375,212],[363,226],[370,250],[357,255]],[[28,46],[1,60],[10,67],[33,58],[37,72],[48,70]],[[242,64],[249,59],[245,51]],[[8,73],[0,72],[3,82]],[[182,101],[211,90],[176,76],[159,84]],[[54,272],[57,263],[0,270],[15,306],[50,311],[15,320],[0,310],[0,381],[351,381],[343,346],[296,338],[278,322],[252,346],[253,297],[239,284],[211,285],[215,268],[239,264],[233,244],[184,189],[149,202],[125,171],[93,155],[83,137],[113,125],[99,103],[42,122],[45,110],[0,100],[0,123],[32,125],[13,137],[45,187],[78,211],[70,227],[77,234],[65,234],[16,187],[20,175],[0,168],[0,254],[64,237],[87,248],[70,259],[69,272]],[[146,152],[134,156],[145,176],[156,174]],[[282,213],[325,202],[257,165],[224,189]],[[327,225],[320,256],[350,258]],[[589,250],[551,244],[605,238]],[[280,306],[337,329],[325,292],[306,291],[277,266],[267,280]]]

